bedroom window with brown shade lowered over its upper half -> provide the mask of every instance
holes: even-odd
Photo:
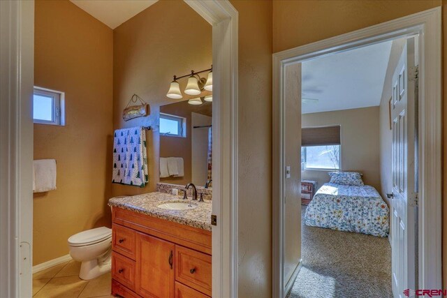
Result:
[[[302,128],[301,170],[340,170],[340,126]]]

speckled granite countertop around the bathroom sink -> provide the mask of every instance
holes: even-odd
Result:
[[[188,202],[196,204],[195,209],[171,210],[157,207],[166,202]],[[212,201],[198,202],[193,200],[182,200],[177,195],[169,193],[145,193],[143,195],[133,195],[131,197],[117,197],[109,200],[109,206],[147,214],[156,218],[166,219],[182,225],[189,225],[211,231]]]

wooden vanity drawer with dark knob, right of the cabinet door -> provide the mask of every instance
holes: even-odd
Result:
[[[211,296],[211,255],[175,246],[175,280]]]

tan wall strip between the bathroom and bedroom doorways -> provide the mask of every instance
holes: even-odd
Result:
[[[272,2],[231,1],[239,12],[239,297],[271,297]]]

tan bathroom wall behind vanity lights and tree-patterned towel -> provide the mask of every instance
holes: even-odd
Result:
[[[159,107],[176,102],[166,97],[169,83],[173,75],[210,68],[212,27],[184,1],[159,1],[117,27],[113,37],[113,127],[154,128],[147,132],[149,184],[144,188],[112,185],[113,195],[136,195],[155,191],[159,181]],[[182,90],[186,82],[187,78],[179,80]],[[122,110],[133,94],[149,103],[150,115],[124,121]],[[191,97],[196,96],[184,95],[184,99]],[[185,179],[172,182],[185,184]]]

